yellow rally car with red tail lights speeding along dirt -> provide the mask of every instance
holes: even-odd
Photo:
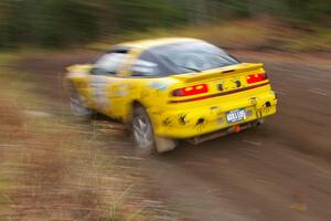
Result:
[[[120,119],[146,152],[237,133],[276,113],[263,64],[242,63],[201,40],[122,43],[95,64],[67,70],[72,112]]]

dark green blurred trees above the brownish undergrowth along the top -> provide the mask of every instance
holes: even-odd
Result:
[[[106,34],[259,14],[328,23],[330,0],[1,0],[0,46],[65,46]],[[330,21],[329,21],[330,22]]]

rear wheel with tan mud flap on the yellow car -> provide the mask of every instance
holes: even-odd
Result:
[[[164,152],[177,146],[172,139],[154,136],[151,120],[142,106],[135,108],[131,127],[135,146],[142,154]]]

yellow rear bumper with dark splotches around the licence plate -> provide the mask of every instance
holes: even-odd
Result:
[[[276,113],[277,98],[274,92],[266,92],[255,97],[246,97],[222,105],[194,106],[190,109],[175,109],[151,114],[154,134],[160,137],[186,139],[210,133],[252,123]],[[244,108],[246,118],[228,123],[226,113]]]

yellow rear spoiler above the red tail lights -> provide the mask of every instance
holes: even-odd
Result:
[[[250,64],[241,63],[229,66],[224,66],[221,69],[209,70],[201,73],[190,73],[190,74],[179,74],[172,75],[171,77],[180,80],[185,83],[197,82],[203,80],[218,78],[222,74],[237,74],[242,72],[257,71],[264,66],[261,63]]]

